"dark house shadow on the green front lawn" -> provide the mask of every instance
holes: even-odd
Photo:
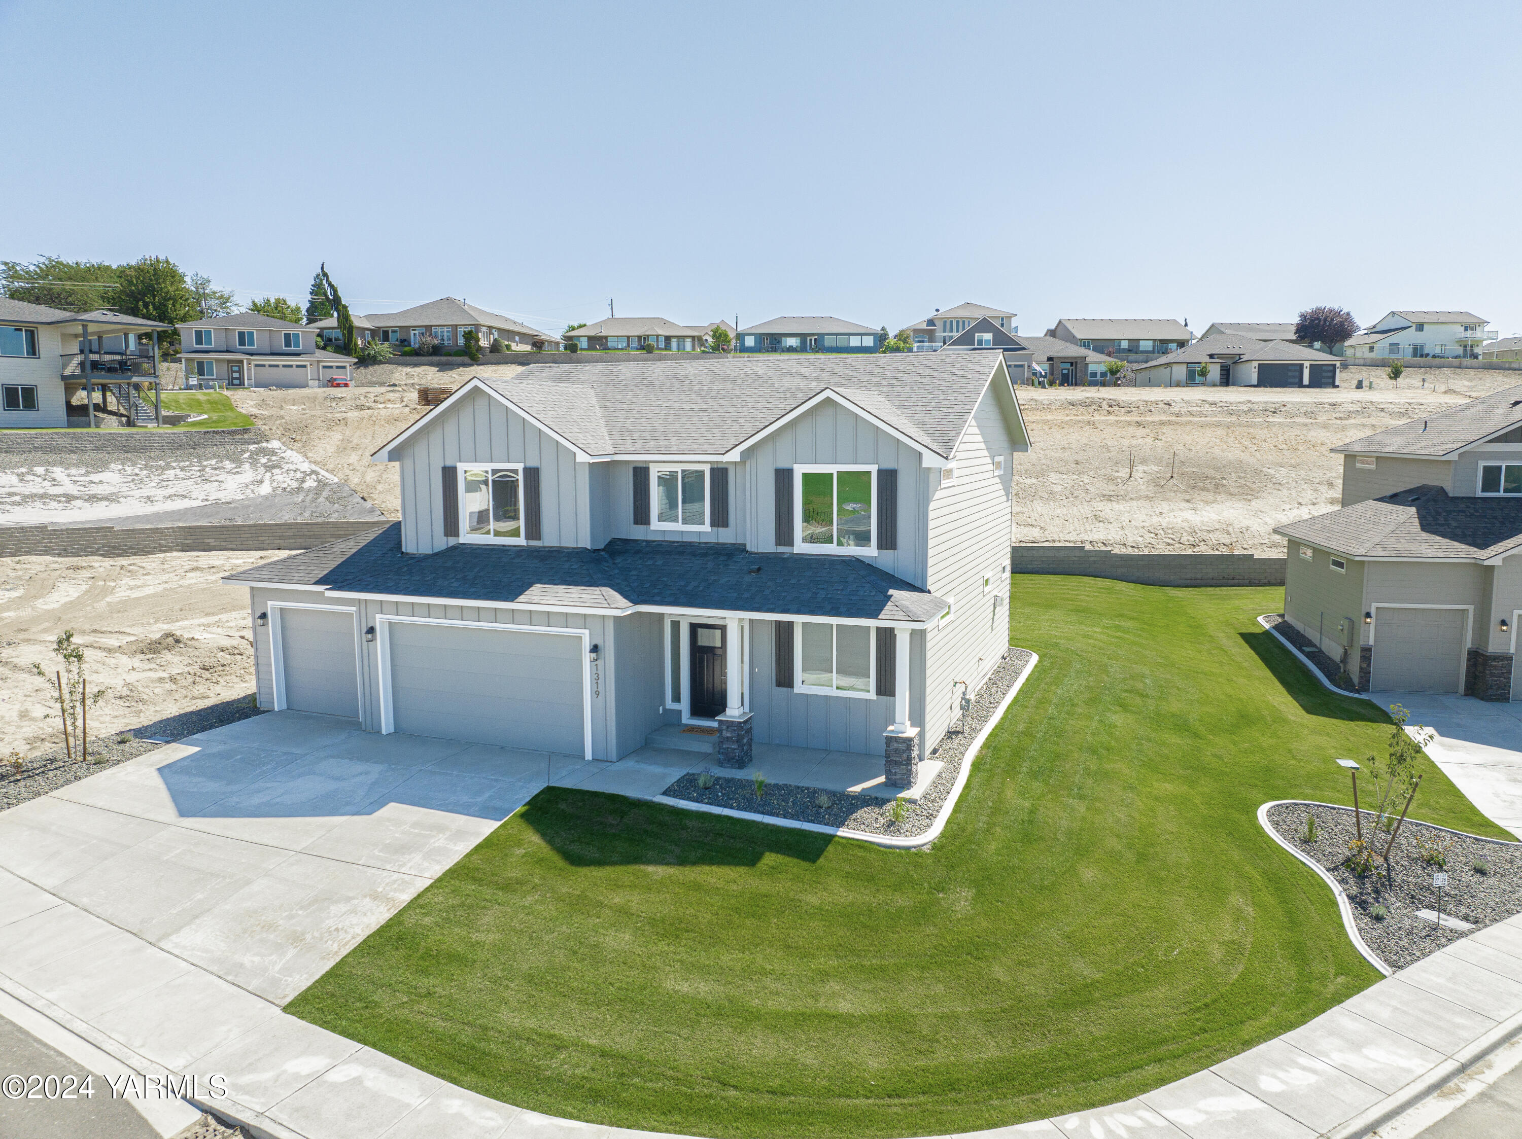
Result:
[[[574,867],[753,867],[766,855],[817,862],[834,841],[575,788],[545,788],[517,817]]]

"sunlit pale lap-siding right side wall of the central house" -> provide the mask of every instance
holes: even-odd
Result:
[[[1009,646],[1009,563],[1012,514],[1009,500],[1015,439],[1003,406],[1014,400],[1008,388],[991,386],[953,461],[956,479],[936,490],[930,502],[930,563],[927,585],[941,598],[956,599],[956,617],[927,633],[924,742],[935,744],[957,715],[960,686],[976,693]],[[994,473],[994,456],[1005,456],[1005,471]],[[994,572],[992,593],[983,593],[983,573]],[[997,604],[995,604],[997,602]]]

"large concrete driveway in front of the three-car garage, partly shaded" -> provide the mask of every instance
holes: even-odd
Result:
[[[546,783],[606,766],[272,712],[0,814],[0,870],[283,1005]]]

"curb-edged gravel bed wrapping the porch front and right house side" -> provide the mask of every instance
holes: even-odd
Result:
[[[893,800],[883,800],[875,795],[842,794],[836,791],[820,791],[796,783],[767,783],[761,797],[756,797],[755,786],[741,779],[715,777],[714,786],[706,791],[697,785],[699,773],[688,773],[668,786],[664,794],[670,798],[683,798],[689,803],[706,803],[731,811],[747,811],[755,815],[772,815],[775,818],[791,818],[799,823],[817,823],[826,827],[846,827],[864,830],[871,835],[915,836],[930,830],[941,814],[947,795],[962,771],[968,745],[988,724],[989,716],[1000,706],[1009,689],[1030,666],[1032,654],[1027,649],[1009,649],[998,668],[988,677],[977,696],[973,698],[973,709],[954,728],[948,728],[941,742],[924,759],[941,760],[941,771],[918,803],[909,803],[903,821],[895,823],[890,814]]]

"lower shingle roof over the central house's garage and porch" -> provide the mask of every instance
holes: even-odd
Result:
[[[402,554],[400,523],[253,566],[224,581],[610,611],[645,605],[925,622],[945,610],[941,598],[860,558],[626,538],[600,550],[455,544],[417,555]]]

